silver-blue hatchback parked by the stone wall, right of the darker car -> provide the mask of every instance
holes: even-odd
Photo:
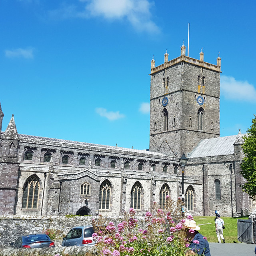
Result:
[[[92,238],[93,233],[92,225],[72,228],[63,238],[62,246],[95,246],[96,242]]]

